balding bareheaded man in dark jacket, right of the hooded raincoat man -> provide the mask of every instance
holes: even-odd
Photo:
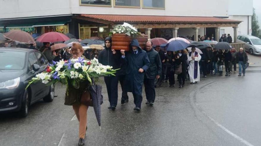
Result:
[[[146,42],[146,52],[149,57],[149,69],[144,76],[144,86],[147,102],[150,106],[153,106],[155,101],[155,78],[159,79],[161,74],[161,60],[160,55],[156,50],[152,49],[153,43],[151,41]]]

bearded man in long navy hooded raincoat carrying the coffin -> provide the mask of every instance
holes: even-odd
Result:
[[[142,50],[139,46],[137,39],[133,39],[131,42],[132,49],[125,55],[125,50],[121,50],[122,58],[127,63],[126,69],[126,89],[128,92],[133,93],[134,104],[136,107],[134,110],[141,110],[142,102],[142,84],[144,80],[144,74],[149,68],[149,57],[146,51]]]

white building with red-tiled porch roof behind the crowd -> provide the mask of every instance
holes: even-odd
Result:
[[[0,31],[56,31],[104,38],[128,22],[149,37],[251,35],[252,0],[8,0],[0,1]],[[234,40],[234,39],[233,39]]]

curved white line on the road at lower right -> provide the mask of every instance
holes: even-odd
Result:
[[[208,86],[212,83],[214,83],[215,81],[212,81],[204,86],[202,86],[201,88],[204,88],[205,86]],[[239,137],[237,134],[229,131],[226,127],[224,127],[223,125],[221,125],[219,122],[217,122],[216,120],[214,120],[213,118],[211,118],[209,115],[206,114],[206,112],[203,111],[203,109],[200,107],[200,105],[197,102],[196,99],[196,94],[197,92],[194,93],[194,103],[197,106],[197,108],[199,109],[199,111],[201,111],[206,117],[208,117],[212,122],[214,122],[215,125],[217,125],[219,128],[221,128],[222,130],[224,130],[225,132],[227,132],[228,134],[230,134],[232,137],[234,137],[235,139],[239,140],[240,142],[244,143],[247,146],[254,146],[251,143],[249,143],[248,141],[244,140],[243,138]]]

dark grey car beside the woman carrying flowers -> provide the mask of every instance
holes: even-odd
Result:
[[[54,99],[54,86],[39,82],[29,86],[28,81],[43,72],[48,65],[45,56],[34,49],[0,48],[0,113],[18,112],[28,115],[28,106],[43,99]]]

